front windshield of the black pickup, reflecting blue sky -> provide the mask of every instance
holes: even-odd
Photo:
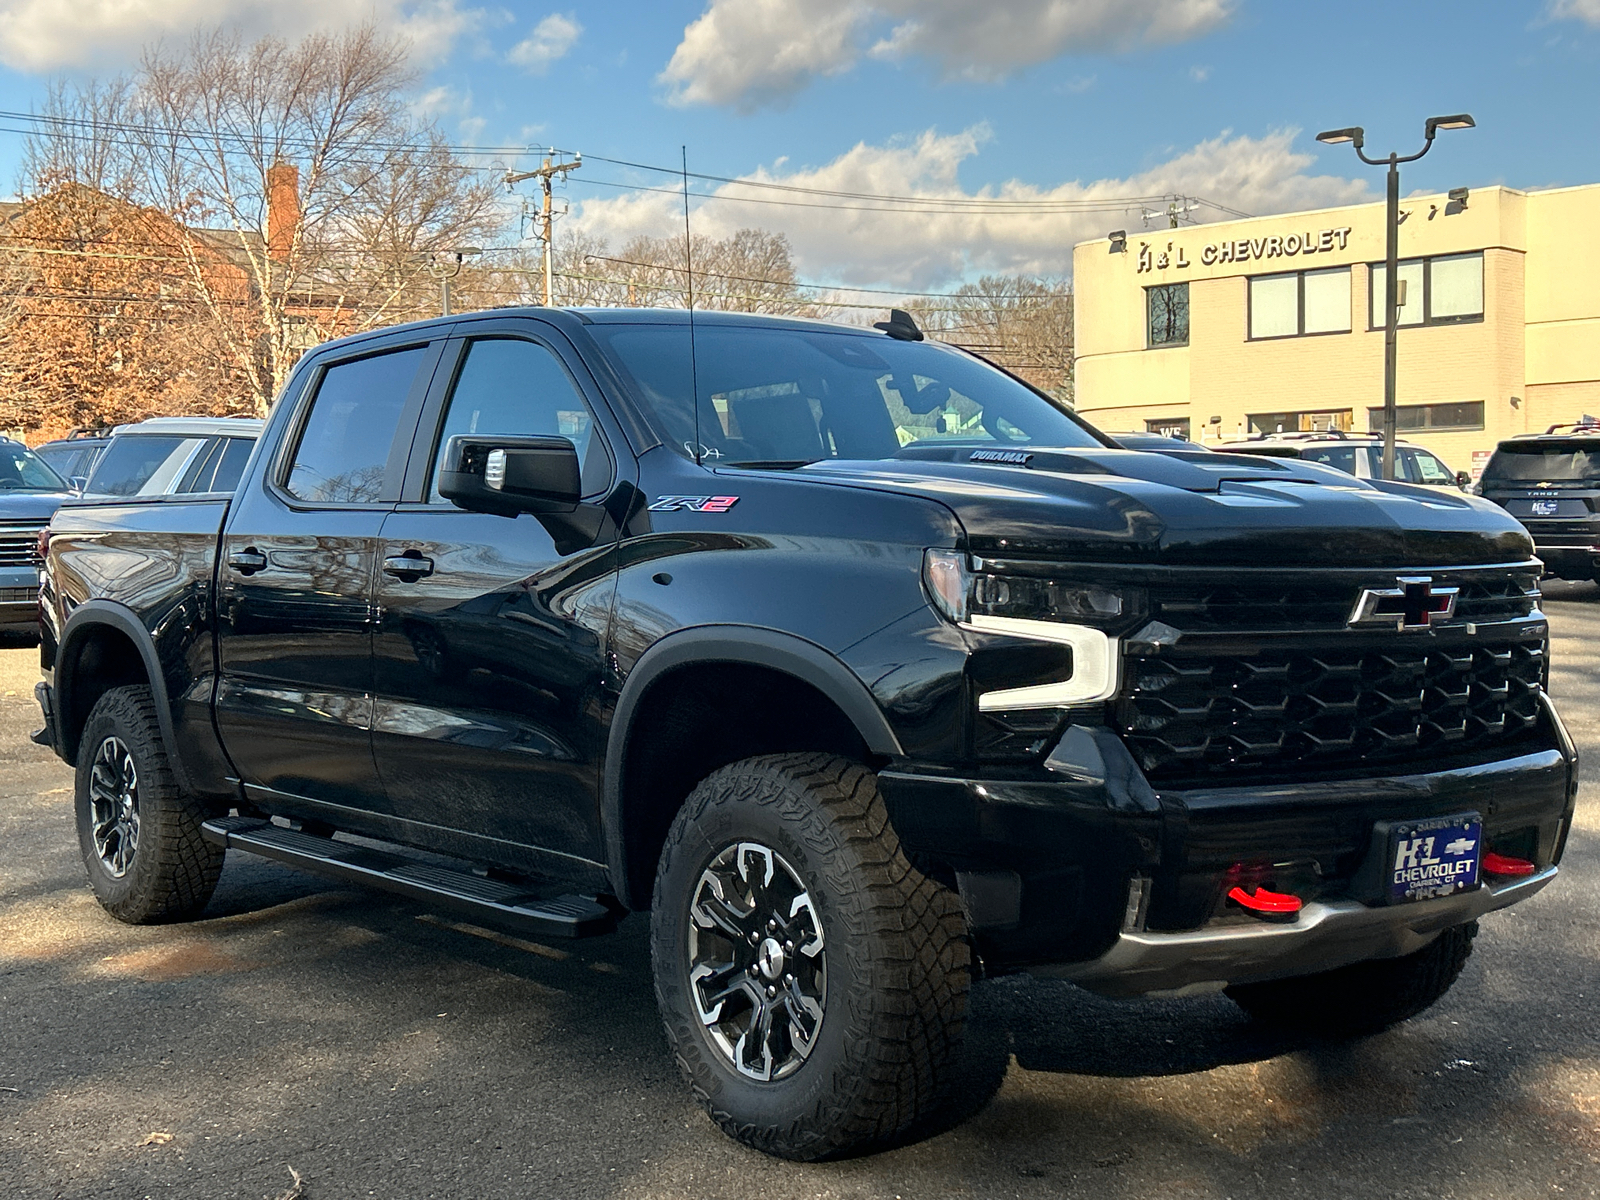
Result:
[[[1016,379],[933,342],[710,325],[590,325],[667,443],[717,466],[886,459],[909,446],[1101,446]]]

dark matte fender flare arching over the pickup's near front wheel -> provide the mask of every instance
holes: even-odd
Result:
[[[635,902],[638,898],[630,894],[629,885],[627,829],[622,818],[622,776],[629,738],[638,704],[651,685],[670,670],[698,662],[742,662],[794,675],[834,701],[869,750],[886,758],[906,755],[883,709],[861,677],[814,642],[763,626],[736,624],[694,626],[667,634],[640,654],[627,674],[606,738],[600,826],[605,835],[606,870],[618,899],[630,909],[648,906],[650,898],[646,894],[643,904]]]

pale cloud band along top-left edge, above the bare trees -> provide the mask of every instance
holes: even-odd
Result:
[[[117,67],[158,38],[202,26],[296,38],[376,18],[411,40],[419,66],[445,59],[490,14],[458,0],[0,0],[0,62],[26,72]]]

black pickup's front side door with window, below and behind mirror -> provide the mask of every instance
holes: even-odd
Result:
[[[595,501],[614,469],[570,349],[533,322],[499,328],[446,352],[448,389],[413,451],[416,496],[382,525],[373,747],[395,818],[469,835],[461,853],[565,870],[603,859],[616,528],[598,506],[542,520],[464,512],[438,496],[438,458],[458,434],[568,437]]]

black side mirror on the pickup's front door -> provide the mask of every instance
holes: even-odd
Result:
[[[501,517],[573,512],[582,496],[578,448],[565,437],[462,434],[445,443],[438,494]]]

